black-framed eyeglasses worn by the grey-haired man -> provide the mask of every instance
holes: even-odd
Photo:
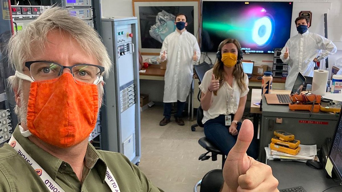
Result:
[[[57,80],[63,73],[63,69],[69,69],[75,81],[97,84],[105,71],[104,67],[98,65],[76,64],[73,66],[63,66],[55,62],[43,60],[27,61],[25,66],[29,69],[31,78],[34,81]]]

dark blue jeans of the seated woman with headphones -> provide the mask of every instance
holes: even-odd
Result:
[[[229,151],[235,145],[237,140],[237,135],[233,136],[229,133],[229,126],[225,126],[225,115],[220,115],[215,119],[210,119],[204,124],[204,134],[207,139],[210,140],[213,144],[215,144],[220,151],[224,152],[224,154],[228,155]],[[233,118],[232,118],[233,120]],[[237,125],[238,132],[241,128],[241,122]],[[251,145],[247,150],[247,155],[253,157],[254,159],[258,158],[258,146],[257,142],[253,139]]]

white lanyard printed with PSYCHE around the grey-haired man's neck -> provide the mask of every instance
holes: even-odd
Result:
[[[27,162],[35,169],[36,173],[40,176],[40,179],[45,183],[46,187],[51,192],[64,192],[64,190],[49,176],[47,172],[34,160],[32,157],[23,149],[19,142],[13,137],[11,137],[9,144],[21,155]],[[118,183],[116,182],[113,174],[107,167],[106,172],[106,183],[113,192],[120,192]]]

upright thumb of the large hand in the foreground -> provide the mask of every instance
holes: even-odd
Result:
[[[244,122],[242,122],[236,143],[231,151],[229,151],[229,153],[233,153],[237,159],[239,157],[242,158],[246,154],[246,151],[251,144],[253,134],[253,123],[250,120],[246,119]]]

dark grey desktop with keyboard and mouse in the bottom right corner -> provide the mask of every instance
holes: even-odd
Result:
[[[267,161],[272,173],[278,179],[278,189],[302,186],[307,192],[322,192],[339,183],[325,177],[324,169],[314,169],[305,163],[294,161]],[[325,192],[342,191],[342,186],[331,188]]]

